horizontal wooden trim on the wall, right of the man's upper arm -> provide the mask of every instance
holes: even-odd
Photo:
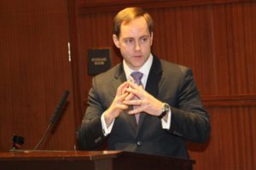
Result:
[[[256,106],[256,94],[202,96],[202,102],[207,107],[209,106]]]

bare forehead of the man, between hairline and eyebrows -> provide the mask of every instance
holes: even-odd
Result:
[[[120,26],[120,37],[149,35],[148,23],[144,17],[138,17],[130,22],[124,21]]]

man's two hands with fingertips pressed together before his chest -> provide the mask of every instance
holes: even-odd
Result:
[[[136,109],[128,111],[130,115],[146,112],[152,116],[159,116],[164,104],[148,94],[142,86],[138,86],[135,82],[124,82],[117,89],[116,96],[106,111],[105,120],[107,124],[119,116],[122,111],[128,109],[129,105],[137,105]]]

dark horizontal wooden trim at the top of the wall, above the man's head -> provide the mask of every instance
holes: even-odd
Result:
[[[101,3],[79,3],[79,14],[99,13],[117,11],[129,6],[142,8],[170,8],[194,5],[211,5],[221,3],[246,3],[253,0],[132,0],[132,1],[113,1]]]

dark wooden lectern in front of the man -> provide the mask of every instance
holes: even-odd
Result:
[[[125,151],[0,152],[1,170],[190,170],[194,163]]]

